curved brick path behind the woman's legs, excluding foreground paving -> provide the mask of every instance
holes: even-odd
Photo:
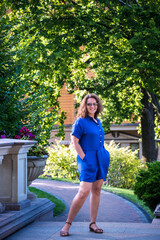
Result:
[[[65,212],[52,218],[52,221],[65,221],[71,205],[72,199],[78,191],[79,185],[55,180],[37,179],[32,183],[33,187],[39,188],[57,198],[63,200],[66,204]],[[74,219],[75,222],[89,222],[89,197],[80,209]],[[101,202],[99,206],[98,222],[127,222],[127,223],[147,223],[146,215],[133,203],[115,194],[103,191],[101,192]]]

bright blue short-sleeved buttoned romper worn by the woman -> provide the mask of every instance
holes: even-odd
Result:
[[[109,152],[104,148],[104,130],[100,120],[96,120],[97,123],[89,116],[78,118],[72,129],[85,153],[83,160],[77,155],[80,181],[84,182],[106,181],[110,163]]]

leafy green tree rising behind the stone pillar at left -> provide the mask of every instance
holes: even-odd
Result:
[[[42,37],[30,34],[29,15],[9,7],[7,1],[0,4],[0,131],[13,137],[25,125],[39,143],[47,144],[55,124],[59,123],[59,135],[64,134],[65,115],[58,102],[63,77],[45,58]]]

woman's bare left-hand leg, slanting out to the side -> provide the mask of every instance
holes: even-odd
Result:
[[[66,222],[72,223],[74,217],[77,215],[80,208],[83,206],[83,203],[85,202],[86,198],[88,197],[91,187],[92,187],[92,183],[80,182],[79,191],[72,201]],[[66,223],[62,228],[62,231],[68,232],[69,228],[70,228],[70,225]]]

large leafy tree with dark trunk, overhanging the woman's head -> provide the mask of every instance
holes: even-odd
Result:
[[[24,66],[43,65],[41,74],[54,70],[56,81],[60,76],[72,91],[77,87],[100,94],[106,105],[105,125],[141,118],[143,157],[155,160],[159,0],[8,0],[7,4],[19,14],[19,32],[37,44],[39,56],[34,52],[31,63]],[[25,49],[27,54],[29,47]],[[46,69],[48,62],[51,67]],[[94,73],[92,78],[87,71]]]

